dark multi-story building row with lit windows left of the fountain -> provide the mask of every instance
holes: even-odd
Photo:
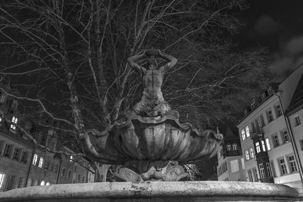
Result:
[[[86,160],[77,157],[76,162],[79,163],[75,163],[73,156],[67,158],[47,153],[45,149],[34,146],[32,140],[18,130],[17,124],[22,125],[39,144],[73,153],[67,147],[58,147],[55,130],[50,128],[45,131],[33,126],[19,112],[17,100],[0,91],[0,191],[26,186],[93,182],[94,175],[86,169]]]

